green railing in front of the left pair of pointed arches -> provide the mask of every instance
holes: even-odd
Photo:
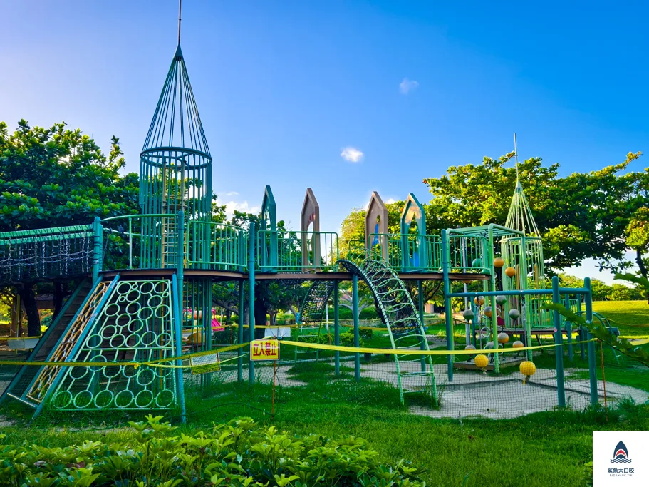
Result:
[[[257,232],[257,261],[261,272],[333,271],[338,268],[336,232]]]

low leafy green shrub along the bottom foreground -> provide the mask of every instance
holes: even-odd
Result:
[[[250,418],[207,433],[174,435],[162,416],[130,426],[136,441],[85,441],[66,448],[7,445],[0,451],[3,486],[425,486],[406,461],[386,465],[362,439],[304,437],[259,426]]]

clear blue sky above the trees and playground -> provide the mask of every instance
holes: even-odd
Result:
[[[337,230],[372,190],[429,200],[423,178],[507,153],[514,132],[522,158],[562,173],[619,162],[649,149],[648,14],[625,1],[185,0],[214,191],[256,210],[270,184],[297,228],[311,187]],[[177,1],[14,1],[1,16],[0,119],[63,120],[106,149],[117,135],[137,170]],[[610,280],[586,264],[574,273]]]

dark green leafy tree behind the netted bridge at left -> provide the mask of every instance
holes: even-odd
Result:
[[[93,138],[65,123],[9,134],[0,122],[0,230],[88,224],[93,217],[137,213],[137,174],[120,175],[125,160],[113,137],[108,156]],[[56,286],[55,286],[56,289]],[[33,284],[19,286],[28,334],[40,333]]]

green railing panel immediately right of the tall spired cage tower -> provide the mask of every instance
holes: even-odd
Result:
[[[247,267],[249,234],[224,223],[187,223],[187,267],[242,272]]]

